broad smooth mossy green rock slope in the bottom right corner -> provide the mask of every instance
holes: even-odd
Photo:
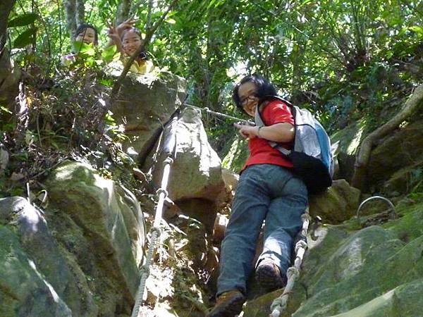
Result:
[[[317,242],[309,240],[283,316],[421,316],[423,204],[399,213],[398,220],[355,232],[321,228]],[[244,316],[268,316],[278,294],[250,302]]]

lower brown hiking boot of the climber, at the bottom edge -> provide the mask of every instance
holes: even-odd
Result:
[[[216,305],[207,317],[234,317],[243,310],[245,296],[238,290],[224,292],[217,297]]]

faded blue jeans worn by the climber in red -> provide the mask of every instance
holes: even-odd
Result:
[[[271,164],[244,170],[221,246],[218,295],[229,290],[246,293],[263,221],[264,248],[258,261],[271,259],[286,273],[293,239],[302,228],[301,215],[307,203],[304,182],[290,170]]]

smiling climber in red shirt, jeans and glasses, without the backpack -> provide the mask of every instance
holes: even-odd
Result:
[[[274,95],[275,87],[259,75],[243,78],[233,89],[236,106],[253,117],[259,107],[265,126],[235,125],[248,139],[250,156],[240,175],[221,246],[217,300],[210,317],[235,316],[242,310],[263,222],[257,281],[267,292],[286,285],[293,239],[302,228],[301,215],[307,207],[307,188],[292,173],[292,163],[269,144],[278,142],[289,149],[294,138],[290,108],[269,98]]]

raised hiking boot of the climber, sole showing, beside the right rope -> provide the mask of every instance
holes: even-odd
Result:
[[[286,286],[287,278],[271,259],[263,259],[256,268],[257,283],[266,292],[273,292]]]

